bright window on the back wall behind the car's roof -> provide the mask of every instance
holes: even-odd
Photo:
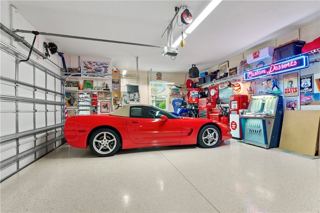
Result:
[[[166,109],[166,96],[167,96],[167,82],[166,81],[151,81],[151,104]]]

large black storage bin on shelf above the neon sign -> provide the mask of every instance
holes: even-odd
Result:
[[[276,60],[281,60],[294,55],[301,54],[305,41],[293,40],[274,48]]]

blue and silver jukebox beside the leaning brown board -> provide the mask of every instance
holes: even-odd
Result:
[[[282,108],[282,96],[252,96],[247,111],[240,115],[243,143],[266,149],[279,147]]]

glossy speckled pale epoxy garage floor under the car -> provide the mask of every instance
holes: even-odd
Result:
[[[0,183],[0,212],[318,213],[319,168],[233,139],[108,158],[64,144]]]

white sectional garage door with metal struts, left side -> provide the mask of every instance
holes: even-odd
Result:
[[[61,77],[1,43],[1,181],[64,143]]]

